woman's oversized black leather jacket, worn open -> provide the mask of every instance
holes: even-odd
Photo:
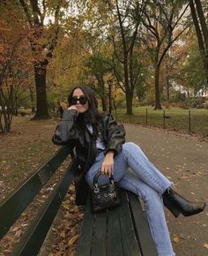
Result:
[[[77,110],[64,110],[63,119],[57,125],[52,140],[59,146],[66,144],[75,146],[81,166],[89,169],[96,157],[96,143],[87,129],[78,126],[76,118]],[[105,152],[114,150],[117,154],[125,142],[123,124],[117,124],[112,116],[105,115],[99,121],[99,132],[105,145]]]

